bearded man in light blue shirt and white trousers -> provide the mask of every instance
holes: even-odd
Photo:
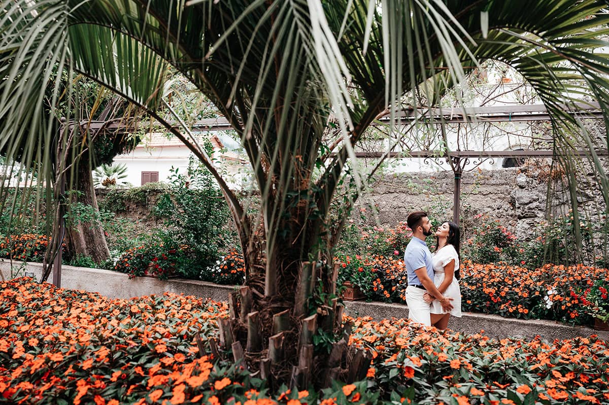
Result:
[[[452,309],[452,298],[445,298],[434,285],[434,267],[431,262],[431,252],[425,244],[425,237],[432,234],[431,222],[427,213],[415,211],[406,219],[408,227],[412,230],[412,240],[404,252],[404,264],[408,274],[408,287],[406,288],[406,304],[408,305],[408,318],[413,322],[431,326],[429,302],[424,300],[425,292],[440,301],[445,311]]]

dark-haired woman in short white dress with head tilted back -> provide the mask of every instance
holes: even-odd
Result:
[[[445,312],[440,301],[431,302],[431,324],[440,330],[446,329],[451,315],[461,317],[461,290],[459,289],[459,238],[457,224],[445,222],[435,231],[436,246],[432,255],[434,284],[446,298],[452,298],[450,312]],[[431,300],[431,295],[429,300]]]

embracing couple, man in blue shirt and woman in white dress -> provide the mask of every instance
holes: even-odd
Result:
[[[410,213],[406,220],[412,240],[404,252],[408,274],[406,304],[408,318],[426,326],[446,329],[450,315],[461,316],[459,272],[459,227],[445,222],[437,231],[436,249],[432,255],[425,244],[432,234],[427,213]]]

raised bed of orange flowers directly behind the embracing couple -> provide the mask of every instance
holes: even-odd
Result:
[[[350,280],[369,300],[406,302],[406,269],[401,259],[395,256],[338,256],[336,261],[342,272],[339,281]],[[463,311],[519,319],[558,320],[574,325],[592,323],[593,311],[585,298],[586,289],[593,283],[609,284],[607,269],[582,265],[547,264],[529,270],[465,260],[460,273]]]

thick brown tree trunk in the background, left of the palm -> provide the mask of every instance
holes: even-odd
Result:
[[[93,176],[91,175],[89,165],[81,162],[77,172],[74,189],[82,194],[72,198],[71,202],[79,202],[92,206],[95,213],[99,212],[93,188]],[[104,228],[97,220],[93,220],[93,222],[77,221],[76,223],[69,224],[66,231],[66,245],[68,246],[68,252],[72,256],[89,256],[97,264],[110,258],[110,250],[108,250],[108,244],[106,243]]]

